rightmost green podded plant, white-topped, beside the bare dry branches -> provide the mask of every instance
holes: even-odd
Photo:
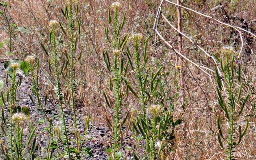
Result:
[[[226,160],[234,160],[236,154],[235,148],[240,144],[249,125],[249,120],[247,119],[242,131],[241,125],[238,126],[237,123],[241,120],[240,115],[243,113],[243,109],[250,93],[247,93],[245,98],[242,98],[243,87],[245,85],[241,82],[241,65],[239,64],[237,66],[234,64],[236,58],[234,49],[231,47],[224,47],[223,56],[218,57],[215,55],[215,57],[219,61],[223,72],[223,77],[221,77],[217,72],[217,69],[215,69],[215,76],[218,84],[218,101],[221,109],[224,111],[225,120],[228,123],[228,132],[225,136],[223,129],[221,129],[221,123],[224,121],[224,118],[222,118],[222,115],[217,116],[217,136],[219,144],[226,150]],[[226,91],[224,91],[224,88]],[[238,133],[238,139],[236,138],[236,133]],[[226,146],[223,144],[222,139],[226,141]]]

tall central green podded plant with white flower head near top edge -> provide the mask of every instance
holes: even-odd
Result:
[[[108,22],[111,25],[113,29],[113,39],[110,40],[109,38],[109,30],[108,27],[105,28],[105,34],[106,38],[109,43],[111,43],[111,47],[109,48],[111,51],[111,55],[109,56],[108,54],[108,49],[103,51],[103,56],[104,56],[104,61],[106,63],[108,71],[111,72],[111,76],[113,78],[110,78],[110,86],[111,86],[111,91],[113,91],[113,94],[115,96],[115,104],[112,107],[111,104],[109,104],[108,98],[106,94],[104,93],[106,102],[108,106],[113,110],[113,122],[112,124],[108,120],[107,116],[107,122],[109,125],[109,129],[111,129],[111,133],[113,135],[113,139],[111,142],[111,147],[109,148],[109,152],[111,156],[109,159],[113,160],[120,160],[123,157],[122,151],[120,151],[121,147],[121,130],[122,130],[122,125],[126,121],[126,118],[122,119],[122,113],[121,113],[121,108],[122,108],[122,100],[124,98],[124,94],[122,93],[122,87],[124,86],[123,81],[124,77],[126,76],[127,73],[127,67],[128,63],[126,64],[126,67],[124,68],[124,57],[122,57],[122,51],[124,49],[124,46],[127,42],[128,35],[126,34],[124,37],[121,36],[121,30],[124,26],[125,22],[125,13],[122,18],[122,21],[119,23],[119,18],[118,18],[118,10],[120,7],[119,2],[114,2],[111,5],[111,9],[109,9],[109,18]],[[114,12],[114,18],[113,18],[113,24],[111,20],[111,12]],[[113,57],[113,58],[112,58]],[[112,58],[112,60],[110,60]],[[112,83],[114,85],[112,89]]]

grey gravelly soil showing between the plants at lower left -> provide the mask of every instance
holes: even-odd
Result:
[[[6,80],[6,70],[4,69],[4,61],[0,60],[0,79]],[[40,109],[38,105],[34,105],[32,100],[30,99],[29,95],[32,96],[33,101],[35,104],[37,104],[37,99],[33,95],[32,90],[30,89],[31,82],[27,76],[19,72],[20,77],[22,78],[22,83],[17,91],[17,105],[20,106],[26,106],[30,109],[30,118],[29,122],[24,126],[24,137],[28,137],[30,135],[31,129],[33,127],[37,127],[37,143],[35,149],[36,155],[40,156],[41,155],[41,150],[42,148],[45,150],[48,142],[49,142],[49,136],[46,134],[43,134],[44,130],[43,128],[46,128],[48,126],[47,121],[45,120],[45,123],[41,124],[38,121],[39,120],[44,120],[45,115],[43,115],[43,111]],[[2,89],[4,92],[6,91],[6,84],[4,86],[4,89]],[[42,91],[41,91],[42,92]],[[45,95],[41,93],[41,100],[44,101]],[[44,104],[44,102],[42,102]],[[48,117],[54,119],[53,124],[57,125],[60,122],[60,118],[58,118],[59,111],[56,109],[56,106],[53,106],[52,103],[50,103],[50,100],[47,100],[46,105],[45,105],[45,111],[48,114]],[[8,115],[7,107],[4,107],[4,112],[5,112],[5,117]],[[65,111],[67,114],[69,114],[67,117],[68,123],[70,124],[71,122],[71,111]],[[77,113],[77,117],[79,119],[79,122],[81,122],[79,132],[82,133],[84,130],[83,124],[84,124],[84,113],[82,113],[82,109],[79,110]],[[54,118],[55,117],[55,118]],[[57,118],[56,118],[57,117]],[[1,117],[2,118],[2,117]],[[102,122],[105,122],[105,120],[102,120]],[[92,126],[92,124],[90,124]],[[0,135],[2,134],[2,131],[0,132]],[[124,142],[123,142],[123,147],[129,146],[130,147],[130,152],[128,153],[127,160],[132,159],[132,154],[131,151],[134,150],[135,148],[135,143],[134,143],[134,138],[131,138],[130,135],[132,133],[128,132],[128,135],[124,137]],[[81,135],[82,136],[82,135]],[[71,139],[75,140],[74,135],[71,135]],[[5,139],[5,138],[4,138]],[[111,139],[111,134],[109,132],[109,128],[105,123],[101,124],[95,124],[93,125],[93,128],[89,135],[87,135],[87,142],[86,145],[81,145],[81,147],[91,147],[92,149],[92,154],[93,158],[89,158],[88,156],[83,157],[82,159],[84,160],[105,160],[108,159],[108,154],[105,151],[105,149],[108,149],[109,147],[109,140]],[[25,140],[26,142],[26,140]],[[62,147],[62,148],[61,148]],[[60,146],[58,148],[60,151],[63,149],[63,146]],[[126,154],[126,153],[125,153]],[[1,154],[0,154],[1,155]],[[40,156],[42,158],[42,156]],[[1,156],[0,156],[1,158]]]

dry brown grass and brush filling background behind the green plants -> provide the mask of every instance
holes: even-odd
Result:
[[[121,0],[121,12],[126,12],[126,23],[122,34],[142,33],[144,39],[152,33],[154,18],[160,1],[158,0]],[[222,8],[211,10],[213,7],[222,3]],[[65,0],[9,0],[10,7],[8,14],[11,23],[17,26],[26,27],[33,34],[14,32],[12,56],[6,55],[7,45],[0,50],[2,60],[24,59],[28,55],[35,55],[40,59],[40,76],[42,93],[50,93],[49,85],[54,83],[54,77],[48,71],[48,56],[41,48],[40,43],[50,48],[49,21],[56,19],[58,22],[65,21],[60,7],[63,7]],[[76,49],[76,59],[79,54],[82,56],[76,62],[76,78],[79,95],[84,96],[81,107],[83,114],[92,115],[95,125],[106,124],[104,113],[111,118],[111,110],[106,105],[103,91],[108,93],[109,77],[111,74],[106,69],[106,64],[102,56],[102,49],[109,47],[107,44],[104,28],[108,26],[108,9],[112,0],[81,0],[78,15],[82,17],[81,36],[78,40]],[[176,2],[175,2],[176,3]],[[213,16],[221,22],[233,26],[242,27],[252,33],[256,33],[256,1],[255,0],[184,0],[182,5]],[[176,6],[163,3],[162,11],[168,20],[177,27]],[[122,15],[122,14],[121,14]],[[2,17],[1,17],[2,18]],[[119,17],[122,18],[121,16]],[[6,21],[0,22],[0,40],[8,38],[6,32]],[[64,29],[66,25],[63,25]],[[168,42],[178,49],[178,33],[172,29],[160,16],[158,31],[168,40]],[[240,50],[241,41],[239,33],[234,29],[219,24],[209,18],[196,15],[191,11],[182,9],[182,31],[193,41],[203,47],[210,55],[218,53],[221,47],[230,45],[236,51]],[[110,31],[111,32],[111,31]],[[57,36],[61,31],[57,32]],[[161,78],[164,79],[166,97],[172,96],[174,107],[174,118],[182,118],[175,130],[175,149],[170,155],[175,160],[221,160],[225,158],[225,151],[219,145],[217,139],[216,116],[223,115],[221,107],[217,101],[214,73],[211,76],[204,74],[194,65],[182,59],[182,66],[176,68],[176,54],[164,42],[158,38],[155,32],[148,43],[148,56],[152,70],[156,71],[158,66],[163,66]],[[67,39],[67,35],[63,35]],[[250,100],[245,106],[241,115],[241,120],[237,122],[243,128],[246,118],[249,118],[249,127],[245,137],[239,147],[237,147],[236,159],[254,160],[256,159],[256,102],[254,87],[256,85],[256,40],[251,36],[243,34],[243,51],[240,57],[245,77],[243,83],[248,84],[251,92]],[[69,46],[65,43],[59,47],[59,55],[65,57],[65,52],[69,52]],[[214,69],[214,63],[195,45],[183,38],[183,55],[193,62]],[[65,61],[63,61],[65,62]],[[62,63],[60,61],[60,65]],[[239,63],[239,62],[238,62]],[[180,74],[178,74],[180,71]],[[129,75],[130,71],[128,71]],[[168,74],[168,72],[170,74]],[[2,73],[0,73],[2,74]],[[66,73],[67,74],[67,73]],[[65,81],[63,75],[63,81]],[[179,78],[184,77],[184,109],[182,109],[182,99],[180,95]],[[135,77],[130,77],[130,82],[134,82]],[[176,96],[174,96],[176,95]],[[242,95],[243,97],[245,94]],[[165,105],[169,101],[164,102]],[[129,94],[124,111],[132,108],[139,108],[137,100]],[[223,125],[223,128],[227,126]],[[238,133],[237,133],[238,134]]]

